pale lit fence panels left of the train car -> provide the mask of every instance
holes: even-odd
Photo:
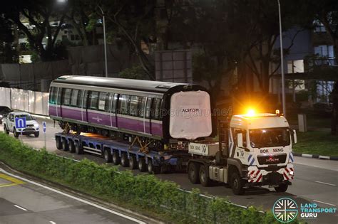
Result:
[[[0,105],[32,114],[48,115],[48,92],[0,87]]]

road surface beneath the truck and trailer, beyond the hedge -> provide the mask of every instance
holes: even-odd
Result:
[[[77,155],[57,150],[53,135],[56,132],[60,132],[61,129],[57,124],[56,127],[53,127],[53,122],[47,121],[46,145],[48,151],[73,159],[87,158],[96,161],[98,164],[105,163],[104,159],[97,156],[89,154]],[[41,123],[41,120],[39,122]],[[0,128],[2,129],[2,127]],[[22,137],[21,139],[36,148],[41,148],[44,144],[43,134],[39,138]],[[135,174],[138,173],[139,171],[135,171]],[[231,189],[224,184],[216,184],[210,187],[193,185],[185,173],[158,174],[156,176],[163,180],[174,181],[186,190],[199,188],[203,193],[227,197],[233,203],[242,206],[258,206],[265,210],[270,210],[275,201],[283,197],[293,198],[298,205],[301,203],[317,203],[322,208],[337,208],[338,204],[338,161],[295,157],[295,180],[292,181],[292,186],[289,187],[286,193],[276,193],[272,188],[252,188],[244,196],[235,196]],[[305,221],[308,223],[338,223],[338,215],[337,213],[319,214],[317,219],[306,219]]]

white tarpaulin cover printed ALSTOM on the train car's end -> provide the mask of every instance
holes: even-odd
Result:
[[[176,92],[170,99],[170,136],[193,140],[212,132],[210,96],[205,91]]]

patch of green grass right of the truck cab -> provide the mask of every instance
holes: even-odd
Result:
[[[329,132],[297,132],[293,151],[321,156],[338,156],[338,136]]]

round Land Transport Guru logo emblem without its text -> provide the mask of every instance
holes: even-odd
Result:
[[[272,213],[281,223],[290,223],[298,215],[298,206],[291,198],[280,198],[275,202]]]

